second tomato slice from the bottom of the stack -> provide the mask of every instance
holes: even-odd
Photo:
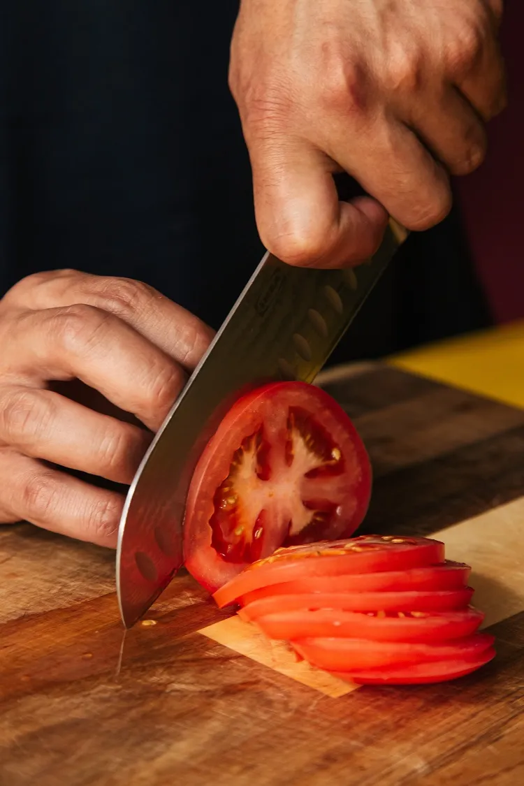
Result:
[[[326,671],[354,672],[415,663],[475,659],[493,646],[489,634],[473,634],[453,641],[427,644],[413,641],[370,641],[354,638],[307,638],[292,647],[313,666]]]

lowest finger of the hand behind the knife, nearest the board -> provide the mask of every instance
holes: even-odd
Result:
[[[0,508],[5,521],[29,521],[70,538],[114,549],[123,496],[0,450]]]

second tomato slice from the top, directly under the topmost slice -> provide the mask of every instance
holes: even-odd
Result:
[[[446,560],[442,565],[413,567],[409,571],[355,573],[348,575],[315,576],[295,579],[284,584],[272,584],[254,589],[242,597],[242,603],[258,601],[269,595],[298,595],[299,593],[379,592],[409,589],[460,589],[467,586],[471,573],[469,565]]]

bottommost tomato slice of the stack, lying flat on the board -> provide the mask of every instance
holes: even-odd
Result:
[[[453,658],[437,660],[431,663],[415,663],[409,667],[380,670],[355,670],[332,672],[346,682],[357,682],[359,685],[428,685],[434,682],[447,682],[471,674],[496,656],[493,647],[480,652],[471,658]]]

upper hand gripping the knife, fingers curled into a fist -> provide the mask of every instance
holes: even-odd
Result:
[[[387,212],[442,220],[449,173],[486,152],[505,103],[502,0],[242,0],[229,82],[251,156],[262,241],[280,259],[366,259]],[[343,169],[375,197],[341,204]]]

